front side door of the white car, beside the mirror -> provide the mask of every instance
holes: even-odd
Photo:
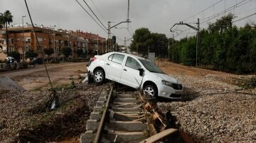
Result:
[[[126,84],[127,86],[131,86],[133,88],[138,88],[142,82],[142,76],[139,76],[139,70],[142,68],[142,65],[139,62],[127,56],[126,62],[122,68],[122,76],[120,82],[122,84]]]

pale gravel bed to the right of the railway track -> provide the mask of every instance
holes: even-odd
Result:
[[[176,78],[184,86],[185,100],[161,102],[158,108],[162,111],[170,109],[181,129],[194,141],[256,142],[255,90],[243,91],[209,76]]]

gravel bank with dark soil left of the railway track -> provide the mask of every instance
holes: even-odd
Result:
[[[34,132],[32,135],[40,135],[37,132],[41,132],[42,127],[52,127],[53,123],[56,127],[59,127],[58,130],[61,130],[61,132],[54,132],[56,135],[51,135],[56,138],[51,137],[49,134],[49,138],[47,139],[60,139],[60,137],[65,137],[67,133],[72,135],[72,132],[80,135],[85,130],[85,126],[82,126],[83,124],[85,125],[85,121],[80,118],[86,119],[87,116],[90,116],[90,112],[102,90],[108,91],[109,86],[79,84],[76,85],[75,89],[58,91],[57,93],[60,96],[62,106],[51,112],[35,114],[28,113],[27,110],[42,98],[46,98],[50,91],[0,91],[0,142],[5,139],[18,137],[18,133],[21,130]],[[80,111],[80,108],[85,108],[86,111]],[[66,118],[72,118],[74,113],[75,118],[66,122],[70,122],[70,124],[74,123],[74,127],[77,127],[77,129],[63,127],[62,122],[56,122],[58,120],[68,120]],[[80,114],[82,116],[78,117]],[[74,122],[74,120],[77,122]],[[67,124],[66,126],[69,125]],[[55,130],[54,127],[53,130]],[[50,132],[50,129],[48,129],[48,132]],[[36,139],[37,137],[34,138]],[[44,140],[40,137],[38,139],[41,139],[38,142],[50,142],[50,140]]]

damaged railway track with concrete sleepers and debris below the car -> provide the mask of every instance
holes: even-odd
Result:
[[[111,86],[110,93],[100,94],[80,142],[193,142],[172,128],[174,121],[166,115],[138,91],[118,92]]]

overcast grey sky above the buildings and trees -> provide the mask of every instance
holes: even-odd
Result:
[[[78,0],[87,11],[89,8],[84,1]],[[107,21],[111,25],[127,19],[128,0],[85,0],[92,8],[92,11],[100,18],[107,27]],[[67,30],[80,29],[84,32],[91,32],[107,37],[102,28],[87,15],[75,0],[27,0],[31,11],[33,23],[37,25],[56,25],[57,28]],[[124,38],[131,38],[132,33],[137,28],[146,27],[153,33],[164,33],[167,37],[172,37],[169,29],[174,23],[184,21],[195,25],[197,18],[204,22],[201,28],[206,28],[208,22],[214,22],[214,14],[222,11],[229,11],[235,14],[235,20],[240,20],[245,16],[256,13],[256,0],[130,0],[129,19],[132,23],[123,23],[117,28],[112,28],[112,33],[120,39],[117,42],[123,44]],[[14,16],[14,23],[21,23],[21,16],[25,23],[30,23],[26,5],[23,0],[0,0],[0,12],[9,10]],[[256,15],[245,18],[235,23],[242,26],[245,23],[256,22]],[[194,30],[189,30],[186,26],[178,26],[174,33],[176,39],[193,35]],[[184,31],[181,33],[181,31]]]

